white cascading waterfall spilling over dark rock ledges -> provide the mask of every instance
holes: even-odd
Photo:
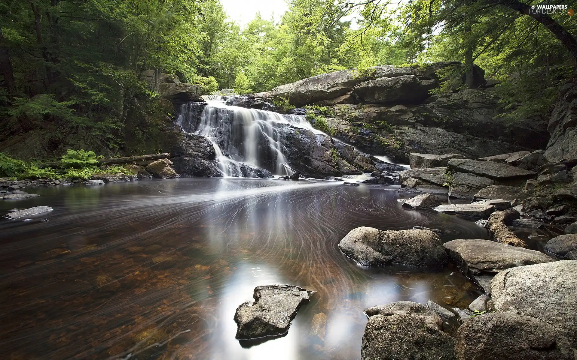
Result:
[[[203,96],[207,105],[198,116],[198,103],[181,105],[177,124],[182,131],[201,135],[212,142],[216,160],[224,176],[242,177],[243,164],[291,175],[284,147],[286,126],[310,126],[301,115],[281,115],[272,111],[246,109],[225,104],[226,96]]]

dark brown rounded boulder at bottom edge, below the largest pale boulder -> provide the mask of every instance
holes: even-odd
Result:
[[[567,338],[545,321],[515,313],[475,316],[458,331],[459,360],[572,360]]]

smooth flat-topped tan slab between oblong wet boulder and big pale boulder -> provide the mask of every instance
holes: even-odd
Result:
[[[540,251],[481,239],[456,239],[443,244],[449,258],[465,274],[494,274],[511,267],[552,262]]]

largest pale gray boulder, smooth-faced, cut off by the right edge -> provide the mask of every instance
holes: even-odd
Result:
[[[491,281],[497,312],[528,315],[560,329],[577,347],[577,260],[509,268]]]

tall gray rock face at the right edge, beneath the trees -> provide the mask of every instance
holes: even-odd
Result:
[[[545,157],[549,161],[577,158],[577,83],[568,82],[561,88],[557,105],[553,108],[547,131],[551,134]]]

